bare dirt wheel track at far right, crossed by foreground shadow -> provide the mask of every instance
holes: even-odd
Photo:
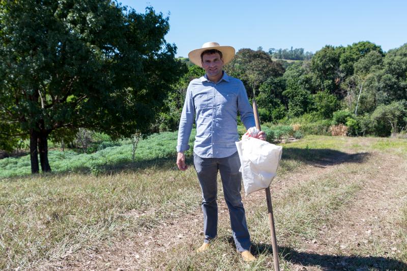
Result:
[[[313,240],[307,240],[307,246],[301,254],[302,259],[294,259],[297,270],[347,269],[355,263],[369,263],[368,258],[376,256],[384,259],[383,265],[375,259],[373,268],[391,268],[389,256],[400,253],[397,245],[397,229],[394,221],[401,216],[399,206],[407,202],[407,162],[397,156],[375,153],[372,159],[379,173],[365,178],[363,188],[356,196],[357,200],[333,219],[333,225],[325,225]],[[314,255],[318,255],[315,257]],[[304,255],[310,255],[308,258]],[[321,255],[322,257],[320,257]],[[338,255],[338,257],[324,257]],[[330,262],[327,262],[329,260]],[[393,263],[394,264],[394,263]],[[319,265],[312,266],[312,265]],[[322,268],[324,267],[324,268]],[[357,270],[369,270],[367,264]]]

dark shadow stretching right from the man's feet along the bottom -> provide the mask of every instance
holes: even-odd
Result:
[[[407,264],[391,258],[377,256],[337,256],[298,252],[287,247],[279,247],[279,254],[293,264],[321,266],[324,270],[407,270]],[[256,254],[273,254],[271,245],[252,244],[251,251]]]

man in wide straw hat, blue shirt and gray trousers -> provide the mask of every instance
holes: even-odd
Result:
[[[266,134],[256,131],[254,127],[253,109],[242,81],[223,71],[223,65],[235,56],[235,49],[207,42],[202,48],[191,51],[188,56],[192,63],[206,71],[205,76],[192,80],[188,86],[177,145],[178,168],[186,170],[184,152],[189,149],[188,141],[195,114],[194,167],[202,190],[205,234],[203,244],[197,251],[208,249],[210,241],[217,234],[216,178],[219,170],[236,248],[245,261],[251,261],[255,258],[250,253],[250,235],[240,195],[240,159],[235,144],[239,141],[238,111],[246,129],[253,131],[254,137],[265,140]]]

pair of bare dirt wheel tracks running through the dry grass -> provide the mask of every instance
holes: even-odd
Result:
[[[405,202],[406,177],[398,172],[406,172],[407,163],[399,157],[374,154],[376,166],[383,168],[380,174],[368,176],[361,194],[352,208],[340,212],[335,219],[338,223],[326,225],[315,240],[306,240],[304,249],[293,256],[293,269],[325,270],[343,269],[352,263],[352,259],[339,257],[321,260],[311,255],[355,255],[372,249],[377,240],[385,240],[386,251],[383,256],[397,253],[396,236],[391,228],[391,221],[399,216],[399,210],[393,206],[400,206]],[[337,157],[335,163],[326,161],[305,165],[296,173],[288,173],[277,177],[272,183],[272,193],[280,193],[318,175],[324,174],[338,166],[338,161],[346,162],[344,157]],[[339,163],[340,164],[340,163]],[[264,203],[264,191],[258,191],[244,199],[248,207]],[[219,199],[220,223],[228,221],[227,207],[223,199]],[[193,251],[201,242],[202,215],[200,209],[185,217],[163,221],[162,225],[152,230],[141,229],[134,238],[112,240],[110,245],[98,248],[98,251],[80,251],[66,255],[58,262],[41,264],[39,269],[49,270],[153,270],[151,266],[160,264],[160,255],[171,251],[183,243]],[[228,223],[228,222],[227,222]],[[386,238],[383,238],[386,236]],[[392,236],[392,238],[387,238]],[[312,252],[312,253],[311,253]],[[305,255],[305,256],[304,256]],[[154,263],[154,264],[153,264]],[[161,263],[163,264],[163,263]],[[165,263],[164,263],[165,264]],[[319,266],[319,267],[318,267]],[[164,267],[163,267],[164,268]],[[361,269],[364,270],[364,269]]]

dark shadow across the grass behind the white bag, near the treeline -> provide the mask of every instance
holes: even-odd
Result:
[[[329,148],[283,148],[281,159],[299,160],[306,164],[325,167],[341,163],[363,163],[369,153],[347,154]]]

